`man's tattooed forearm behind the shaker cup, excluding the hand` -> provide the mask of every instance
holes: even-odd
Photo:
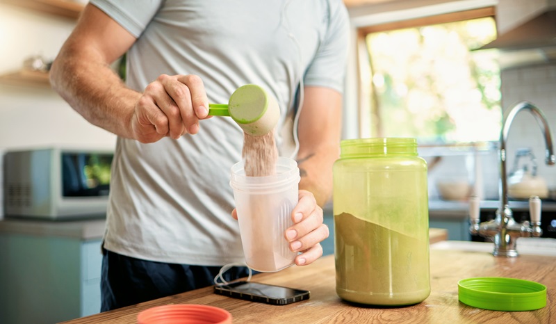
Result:
[[[340,156],[341,111],[339,92],[305,88],[298,125],[300,189],[313,193],[319,206],[324,206],[332,196],[332,165]]]

